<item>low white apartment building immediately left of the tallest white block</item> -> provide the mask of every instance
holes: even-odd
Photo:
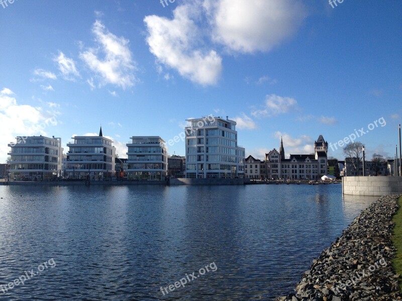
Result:
[[[167,175],[167,146],[159,136],[133,136],[127,143],[129,180],[164,180]]]

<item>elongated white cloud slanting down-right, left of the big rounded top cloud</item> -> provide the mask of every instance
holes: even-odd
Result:
[[[182,5],[173,11],[173,20],[155,15],[145,17],[146,41],[159,63],[194,83],[214,85],[222,71],[222,58],[215,50],[196,47],[201,33],[191,18],[197,19],[198,12],[197,6]]]

